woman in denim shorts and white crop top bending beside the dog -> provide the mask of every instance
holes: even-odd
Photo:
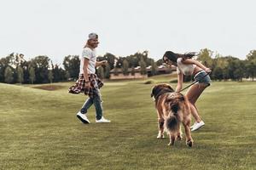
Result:
[[[195,131],[205,125],[199,116],[195,102],[201,93],[205,90],[205,88],[210,86],[211,82],[210,77],[207,75],[211,72],[211,69],[207,68],[205,65],[202,65],[201,62],[192,59],[194,56],[195,53],[175,54],[172,51],[166,51],[163,56],[163,61],[167,65],[177,66],[176,92],[180,92],[183,87],[183,76],[193,76],[195,81],[198,81],[189,88],[189,91],[186,94],[191,104],[191,113],[195,118],[194,125],[190,127],[191,131]]]

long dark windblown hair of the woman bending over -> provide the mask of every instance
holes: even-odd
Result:
[[[167,59],[169,59],[170,61],[172,61],[172,63],[177,63],[177,58],[182,58],[183,60],[185,60],[185,59],[191,59],[194,56],[195,56],[194,52],[185,53],[185,54],[176,54],[176,53],[173,53],[172,51],[166,51],[166,53],[163,56],[163,61],[167,63]],[[165,57],[167,59],[165,59]]]

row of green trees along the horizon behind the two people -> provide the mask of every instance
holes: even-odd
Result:
[[[141,74],[148,74],[147,67],[151,65],[151,75],[158,74],[157,67],[163,64],[160,57],[157,61],[148,57],[148,51],[128,55],[126,57],[116,57],[107,53],[99,56],[97,60],[108,60],[108,65],[100,66],[96,69],[98,77],[108,79],[110,71],[119,74],[119,70],[124,75],[135,73],[135,68],[140,67]],[[232,56],[221,56],[215,54],[210,49],[201,49],[198,60],[209,68],[212,68],[212,80],[234,80],[242,81],[243,77],[253,78],[256,75],[256,50],[247,54],[246,59],[238,59]],[[79,55],[67,55],[64,57],[62,65],[53,64],[46,55],[39,55],[30,60],[25,60],[23,54],[9,54],[0,59],[0,82],[6,83],[49,83],[66,82],[76,80],[79,76]],[[190,80],[191,77],[185,77]]]

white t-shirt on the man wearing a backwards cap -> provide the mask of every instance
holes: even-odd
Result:
[[[89,59],[88,64],[88,74],[95,74],[96,70],[96,49],[84,48],[82,51],[82,55],[80,58],[80,73],[84,74],[83,67],[84,67],[84,58]]]

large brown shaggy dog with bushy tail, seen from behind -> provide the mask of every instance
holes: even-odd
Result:
[[[164,138],[164,129],[170,136],[173,145],[175,139],[181,140],[181,127],[183,123],[186,133],[186,144],[193,145],[190,133],[190,109],[189,100],[183,94],[176,93],[168,84],[158,84],[152,88],[151,97],[154,97],[155,108],[158,114],[159,133],[157,138]]]

